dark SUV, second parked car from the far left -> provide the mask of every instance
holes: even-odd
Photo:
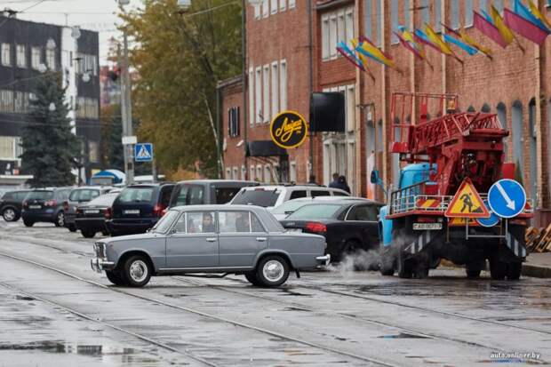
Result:
[[[21,211],[25,226],[33,227],[36,222],[47,222],[55,224],[55,227],[63,227],[63,202],[68,199],[72,189],[73,187],[51,187],[30,191],[23,201]]]

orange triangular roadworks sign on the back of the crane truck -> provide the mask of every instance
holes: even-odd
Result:
[[[444,215],[448,218],[490,218],[490,211],[484,205],[473,182],[467,178],[461,182]]]

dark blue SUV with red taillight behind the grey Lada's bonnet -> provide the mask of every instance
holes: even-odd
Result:
[[[113,216],[107,220],[111,235],[146,232],[164,215],[171,200],[173,183],[132,185],[116,197]]]

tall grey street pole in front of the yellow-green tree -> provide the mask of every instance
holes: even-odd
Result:
[[[128,35],[123,33],[123,65],[121,68],[121,115],[123,119],[123,137],[132,136],[132,100],[128,60]],[[124,173],[126,184],[134,183],[134,159],[132,144],[124,144]]]

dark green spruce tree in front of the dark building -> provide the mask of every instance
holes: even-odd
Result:
[[[31,187],[73,185],[71,170],[79,162],[80,143],[71,132],[60,74],[48,71],[37,78],[34,94],[31,122],[21,134],[22,172],[33,175]]]

